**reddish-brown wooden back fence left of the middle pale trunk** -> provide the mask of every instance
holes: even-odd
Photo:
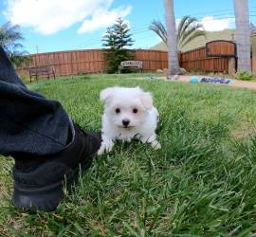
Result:
[[[158,50],[135,51],[136,60],[143,62],[143,71],[155,71],[167,68],[167,52]],[[105,71],[102,49],[74,50],[32,54],[27,67],[17,68],[19,75],[28,76],[28,68],[34,66],[51,66],[56,76],[72,76]]]

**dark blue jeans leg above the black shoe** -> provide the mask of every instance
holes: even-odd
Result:
[[[54,154],[72,131],[60,102],[28,90],[0,47],[0,154]]]

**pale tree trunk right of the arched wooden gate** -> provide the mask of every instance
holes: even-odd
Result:
[[[251,72],[250,67],[250,27],[247,0],[233,0],[235,10],[237,45],[237,71]]]

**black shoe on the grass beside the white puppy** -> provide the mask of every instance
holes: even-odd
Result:
[[[90,167],[92,155],[101,146],[101,135],[86,134],[77,124],[74,124],[74,128],[72,142],[60,153],[13,155],[12,202],[15,207],[22,210],[55,210],[64,197],[64,187],[70,191],[80,170]]]

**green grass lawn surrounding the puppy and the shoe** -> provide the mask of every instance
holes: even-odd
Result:
[[[88,131],[101,129],[101,89],[152,91],[162,149],[119,142],[58,210],[32,215],[9,204],[12,160],[0,158],[0,236],[255,236],[256,91],[135,77],[29,85]]]

